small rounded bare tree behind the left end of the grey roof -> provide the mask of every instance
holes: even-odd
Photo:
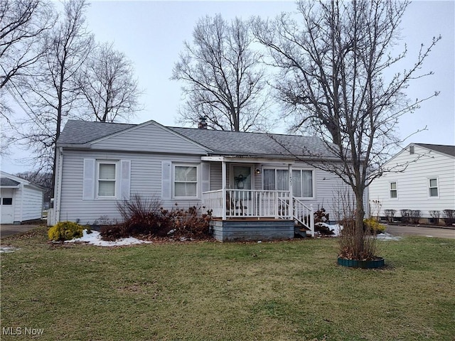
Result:
[[[97,45],[80,69],[77,85],[97,121],[127,120],[139,110],[132,62],[112,43]]]

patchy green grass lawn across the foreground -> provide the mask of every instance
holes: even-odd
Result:
[[[53,246],[2,239],[1,328],[41,340],[454,340],[455,240],[378,242],[382,270],[336,265],[336,239]],[[30,340],[30,335],[1,335]]]

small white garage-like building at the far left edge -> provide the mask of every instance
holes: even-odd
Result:
[[[0,224],[21,224],[41,219],[44,189],[1,171]]]

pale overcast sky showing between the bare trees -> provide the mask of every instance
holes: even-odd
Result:
[[[131,123],[153,119],[166,126],[176,126],[177,108],[181,104],[181,83],[170,80],[173,64],[183,49],[183,40],[191,40],[193,27],[201,16],[221,13],[235,16],[274,17],[282,11],[295,11],[294,1],[92,1],[87,23],[97,41],[111,41],[117,50],[132,60],[139,87],[144,90],[144,110]],[[402,22],[402,45],[407,44],[410,67],[420,44],[429,45],[434,36],[442,40],[433,48],[422,72],[434,75],[417,80],[408,89],[411,99],[428,97],[413,114],[402,117],[398,134],[402,138],[424,129],[408,139],[411,143],[455,144],[455,2],[414,1]],[[397,47],[398,49],[402,48]],[[278,127],[276,133],[285,133]],[[16,158],[26,154],[16,146],[12,155],[2,160],[1,168],[17,173],[30,168]]]

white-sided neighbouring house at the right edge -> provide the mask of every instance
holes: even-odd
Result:
[[[381,217],[433,222],[438,212],[442,218],[443,210],[455,210],[455,146],[410,144],[385,168],[396,172],[370,185],[370,200],[380,202]]]

